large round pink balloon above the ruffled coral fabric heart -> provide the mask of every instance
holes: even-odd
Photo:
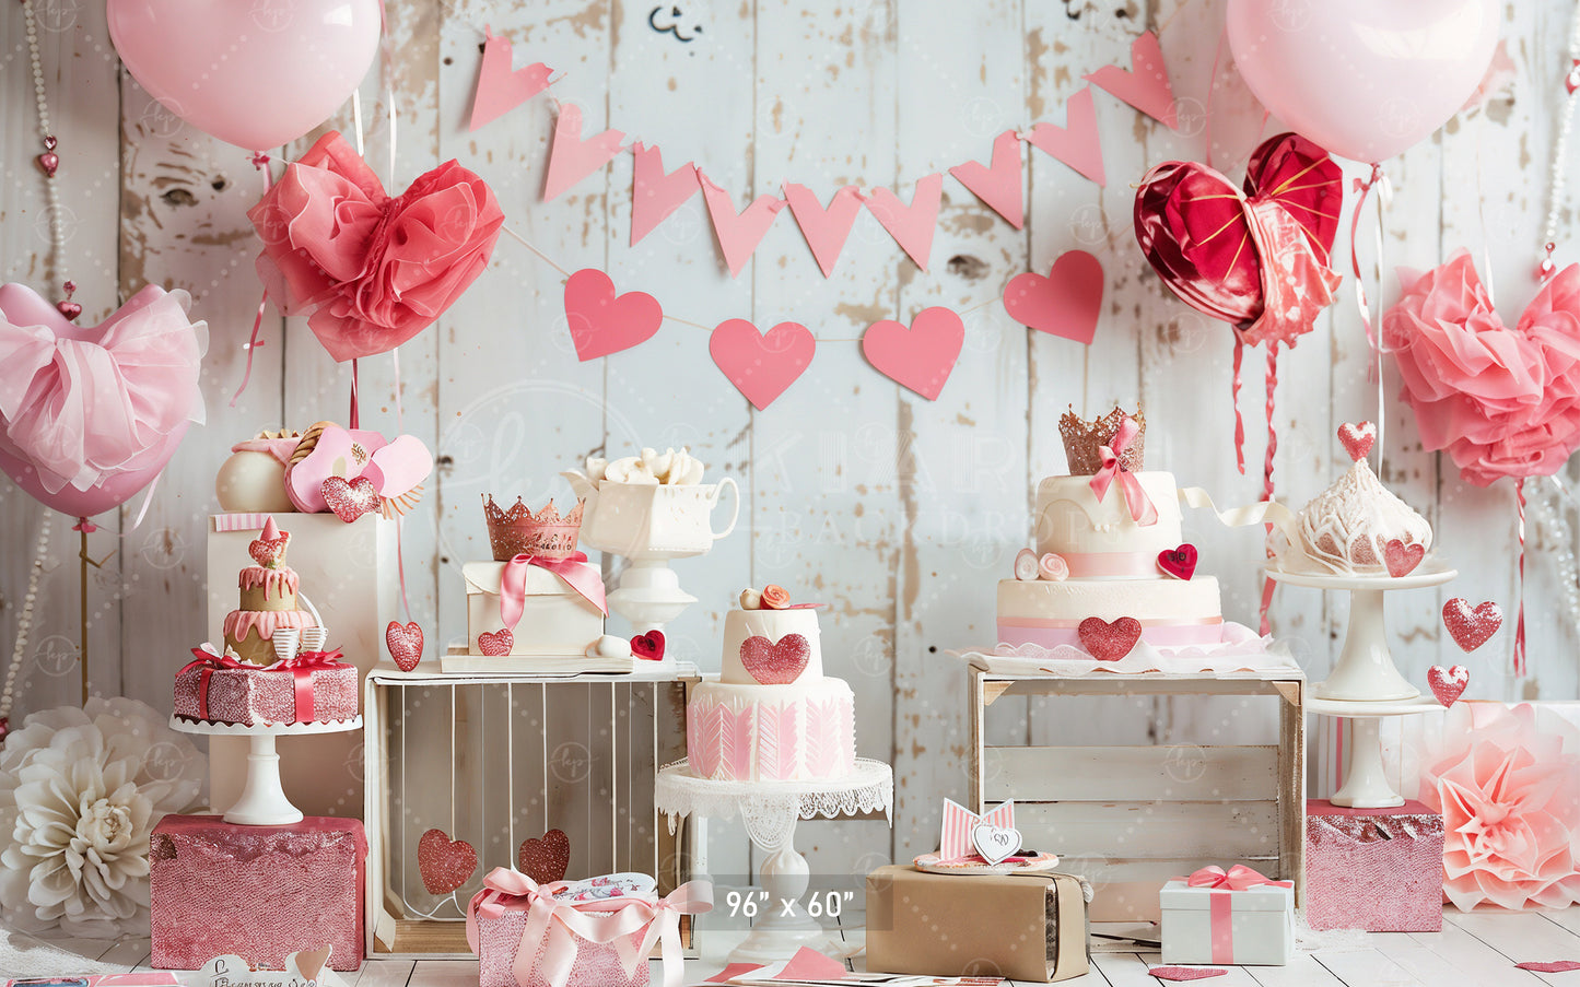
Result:
[[[379,46],[379,0],[109,0],[109,36],[167,111],[267,150],[351,98]]]

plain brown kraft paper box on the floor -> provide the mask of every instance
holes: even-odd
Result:
[[[1051,984],[1087,973],[1087,910],[1068,873],[867,875],[867,970]]]

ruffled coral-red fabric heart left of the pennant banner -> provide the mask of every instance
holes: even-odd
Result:
[[[338,133],[319,137],[248,210],[264,240],[258,276],[335,360],[395,349],[438,319],[488,267],[504,212],[455,161],[384,193]]]

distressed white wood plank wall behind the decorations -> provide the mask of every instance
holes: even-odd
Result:
[[[349,376],[305,325],[270,310],[251,385],[229,404],[259,295],[245,210],[261,178],[245,153],[182,125],[118,69],[101,3],[38,6],[70,210],[66,270],[82,284],[84,319],[101,319],[120,298],[156,283],[191,291],[212,335],[207,426],[190,433],[139,527],[130,515],[104,518],[90,539],[93,557],[109,554],[90,587],[95,690],[166,706],[186,649],[213,633],[204,625],[199,586],[215,469],[232,442],[258,428],[343,418]],[[1228,65],[1209,92],[1223,0],[994,0],[969,8],[694,0],[681,5],[683,16],[703,32],[689,43],[654,32],[651,8],[619,0],[390,0],[395,174],[387,174],[392,134],[379,71],[362,88],[367,158],[390,188],[460,158],[495,186],[510,227],[566,268],[604,267],[621,291],[649,291],[672,314],[705,325],[736,316],[760,327],[803,322],[823,340],[812,368],[769,411],[755,412],[713,368],[706,332],[690,325],[668,322],[640,349],[578,363],[561,310],[562,275],[502,238],[491,270],[439,325],[401,349],[398,417],[392,362],[363,362],[363,420],[386,431],[400,422],[439,456],[428,497],[404,531],[414,616],[438,641],[463,633],[460,564],[483,553],[482,493],[566,497],[559,469],[592,452],[616,456],[638,445],[686,444],[714,477],[738,478],[741,527],[706,559],[676,565],[700,603],[675,624],[672,641],[705,670],[717,668],[720,617],[747,583],[784,583],[831,605],[828,666],[860,696],[861,752],[894,761],[899,812],[893,835],[877,823],[820,824],[804,842],[818,872],[860,873],[931,848],[939,799],[964,796],[964,673],[943,651],[991,636],[994,580],[1029,537],[1032,486],[1063,471],[1055,420],[1065,406],[1100,412],[1141,400],[1152,422],[1150,464],[1207,486],[1220,502],[1259,494],[1262,354],[1247,358],[1250,471],[1242,477],[1229,455],[1229,332],[1160,287],[1134,248],[1130,213],[1131,183],[1150,164],[1201,159],[1210,142],[1213,163],[1237,175],[1277,122],[1262,126]],[[1390,267],[1430,265],[1465,245],[1496,259],[1493,284],[1509,313],[1529,298],[1567,17],[1569,5],[1559,0],[1506,3],[1504,36],[1518,68],[1512,101],[1476,111],[1389,163],[1395,196],[1382,243]],[[550,98],[477,134],[466,131],[485,24],[512,38],[518,60],[544,60],[564,73],[555,95],[583,107],[588,129],[615,126],[657,144],[670,169],[697,161],[738,207],[779,194],[784,182],[806,183],[825,202],[847,183],[891,186],[908,201],[923,175],[986,158],[1002,129],[1062,123],[1063,101],[1084,85],[1082,74],[1125,63],[1130,39],[1146,27],[1161,35],[1185,123],[1168,133],[1098,92],[1108,186],[1022,148],[1024,231],[945,178],[927,272],[863,212],[839,268],[825,280],[785,212],[732,280],[700,196],[629,245],[629,156],[561,199],[540,202]],[[21,5],[0,14],[0,275],[44,289],[54,275],[44,259],[43,183],[32,163],[38,148]],[[332,126],[351,131],[349,107]],[[1566,210],[1559,257],[1571,256],[1571,221]],[[1343,240],[1340,256],[1348,253]],[[1362,246],[1370,257],[1370,234]],[[1071,248],[1097,253],[1106,273],[1103,321],[1085,349],[1030,333],[994,303],[1010,276],[1046,270]],[[1334,428],[1375,411],[1370,352],[1351,291],[1346,284],[1315,333],[1280,362],[1277,477],[1291,501],[1310,497],[1340,471]],[[1397,295],[1392,273],[1382,291],[1389,300]],[[872,321],[908,321],[927,305],[967,313],[965,349],[937,403],[878,376],[855,343]],[[1447,595],[1499,600],[1512,614],[1514,497],[1507,485],[1466,486],[1452,464],[1422,452],[1411,414],[1395,398],[1392,370],[1384,384],[1386,478],[1431,516],[1463,573],[1443,591],[1394,602],[1401,665],[1419,681],[1427,666],[1458,659],[1439,633],[1438,608]],[[41,512],[9,485],[0,499],[0,641],[9,651]],[[1572,504],[1556,502],[1574,523]],[[55,523],[19,714],[76,695],[76,534],[66,526]],[[1194,516],[1188,535],[1202,548],[1204,570],[1221,580],[1231,616],[1253,622],[1259,532],[1224,532]],[[1563,617],[1555,565],[1574,545],[1572,534],[1564,540],[1536,531],[1533,674],[1507,673],[1510,638],[1503,635],[1499,654],[1474,660],[1473,693],[1575,698],[1575,632]],[[1275,629],[1296,640],[1313,677],[1332,660],[1343,610],[1343,602],[1310,591],[1277,597]],[[1038,709],[1018,701],[992,730],[1000,739],[1051,744],[1172,742],[1202,730],[1224,731],[1229,741],[1266,726],[1226,722],[1218,707],[1179,700],[1093,703],[1057,723]],[[743,834],[725,828],[714,842],[714,872],[744,872]]]

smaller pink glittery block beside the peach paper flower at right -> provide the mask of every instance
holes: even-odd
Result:
[[[1307,804],[1305,921],[1311,929],[1443,930],[1443,816]]]

